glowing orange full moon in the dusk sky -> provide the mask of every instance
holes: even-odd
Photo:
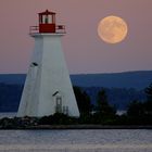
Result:
[[[100,21],[99,37],[107,43],[117,43],[125,39],[128,33],[126,22],[118,16],[107,16]]]

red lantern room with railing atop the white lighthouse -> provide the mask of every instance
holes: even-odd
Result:
[[[65,33],[64,25],[55,24],[55,13],[46,10],[45,12],[38,13],[39,26],[30,26],[30,34],[37,33]]]

